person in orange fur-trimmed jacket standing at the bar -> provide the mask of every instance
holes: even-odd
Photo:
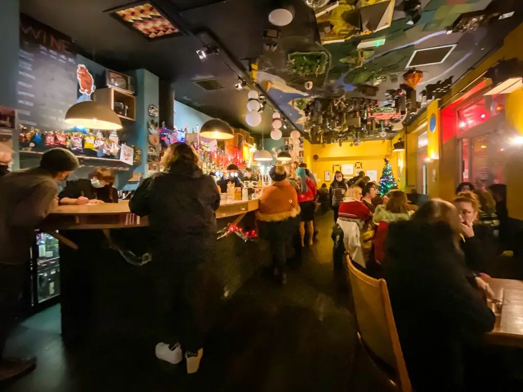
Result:
[[[273,260],[274,276],[281,284],[287,282],[286,248],[292,235],[291,218],[300,212],[298,194],[287,181],[282,165],[273,166],[269,171],[270,186],[261,192],[258,219],[260,236],[269,241]]]

